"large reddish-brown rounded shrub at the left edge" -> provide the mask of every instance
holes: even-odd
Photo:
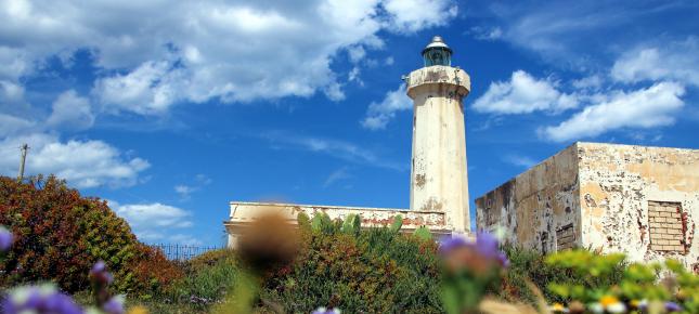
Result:
[[[98,260],[107,263],[124,292],[151,293],[150,288],[179,277],[174,265],[140,244],[104,200],[82,197],[54,176],[31,183],[0,176],[0,224],[15,235],[0,263],[0,286],[52,280],[67,291],[82,290]]]

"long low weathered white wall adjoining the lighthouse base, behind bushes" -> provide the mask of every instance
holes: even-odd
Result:
[[[296,218],[299,212],[305,212],[310,218],[318,212],[324,212],[332,220],[345,220],[349,214],[354,213],[361,217],[362,227],[389,225],[393,222],[393,218],[400,214],[403,218],[401,228],[403,232],[412,232],[419,226],[426,226],[436,235],[450,233],[446,226],[445,213],[441,211],[244,201],[231,201],[230,205],[230,220],[223,222],[229,234],[229,247],[235,247],[241,228],[244,228],[262,213],[282,214],[293,224],[296,224]]]

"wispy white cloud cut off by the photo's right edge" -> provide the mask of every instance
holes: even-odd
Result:
[[[611,69],[611,77],[622,82],[675,80],[699,86],[699,39],[639,48],[623,54]]]

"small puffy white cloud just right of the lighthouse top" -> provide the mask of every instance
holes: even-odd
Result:
[[[578,102],[578,96],[558,91],[554,82],[538,80],[523,70],[517,70],[509,81],[491,82],[471,107],[479,113],[499,115],[555,114],[577,107]]]

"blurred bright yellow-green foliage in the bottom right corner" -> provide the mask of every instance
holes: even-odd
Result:
[[[612,306],[623,311],[648,310],[656,304],[657,313],[699,313],[699,276],[679,262],[666,260],[624,266],[623,260],[623,254],[599,256],[585,250],[548,256],[547,264],[585,278],[581,283],[552,282],[548,288],[569,303],[585,304],[593,311],[612,312]],[[610,276],[621,276],[621,279],[613,285],[595,285]]]

